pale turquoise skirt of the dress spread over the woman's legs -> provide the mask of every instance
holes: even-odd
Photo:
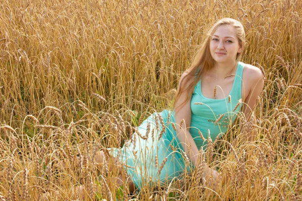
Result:
[[[109,149],[138,190],[169,184],[185,170],[190,172],[192,164],[184,157],[174,123],[174,112],[154,113],[137,127],[128,146]]]

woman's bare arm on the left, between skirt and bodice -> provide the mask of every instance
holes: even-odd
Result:
[[[184,79],[184,77],[186,76],[186,72],[181,76],[180,78],[180,83],[181,81]],[[179,90],[179,87],[178,87]],[[191,94],[192,91],[189,91],[189,93]],[[177,100],[177,102],[175,103],[175,107],[177,108],[180,104],[183,103],[183,101],[186,98],[186,93],[182,93],[179,97],[179,99]],[[191,95],[189,95],[189,99],[187,100],[187,102],[178,109],[178,111],[175,114],[175,123],[176,123],[176,128],[177,128],[177,133],[178,133],[178,139],[183,147],[183,149],[185,150],[185,153],[187,154],[188,158],[191,160],[191,162],[193,163],[193,165],[195,167],[198,166],[198,154],[199,154],[199,150],[192,138],[192,135],[190,134],[189,131],[189,127],[191,124]],[[180,123],[181,121],[184,120],[184,123],[182,124],[182,128],[180,128]],[[212,178],[214,180],[216,180],[219,176],[219,174],[209,168],[206,164],[204,165],[204,169],[203,169],[203,177],[206,177],[207,175],[212,176]],[[211,184],[210,184],[211,185]]]

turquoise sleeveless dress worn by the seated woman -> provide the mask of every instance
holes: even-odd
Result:
[[[238,62],[233,87],[229,94],[231,98],[229,96],[223,99],[207,98],[201,92],[201,80],[195,85],[191,98],[190,133],[198,149],[206,147],[206,141],[201,139],[198,130],[205,138],[209,135],[214,141],[219,134],[221,137],[236,119],[242,105],[240,104],[234,111],[242,98],[243,68],[244,63]],[[202,105],[195,103],[202,103]],[[216,122],[222,114],[220,121]],[[159,116],[163,121],[159,120]],[[129,146],[110,149],[112,155],[122,162],[137,189],[141,189],[142,186],[170,183],[185,170],[190,171],[193,168],[193,165],[183,156],[183,148],[173,123],[175,123],[174,111],[164,110],[161,113],[154,113],[137,127],[137,131],[129,141]],[[146,132],[147,130],[149,132]],[[161,166],[162,169],[159,171]]]

